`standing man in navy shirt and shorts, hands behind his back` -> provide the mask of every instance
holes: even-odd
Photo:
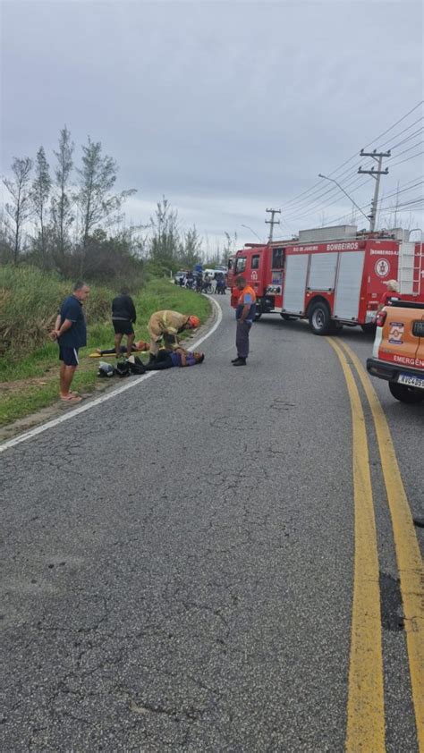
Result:
[[[72,295],[65,298],[51,335],[59,344],[60,396],[66,402],[81,402],[69,388],[78,366],[78,351],[87,344],[87,326],[82,303],[89,296],[89,285],[76,283]]]

